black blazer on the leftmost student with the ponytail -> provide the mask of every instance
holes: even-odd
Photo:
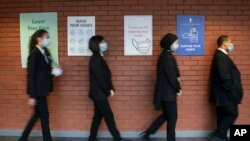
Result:
[[[28,57],[27,93],[30,97],[45,97],[52,91],[51,56],[47,49],[49,63],[41,51],[34,47]]]

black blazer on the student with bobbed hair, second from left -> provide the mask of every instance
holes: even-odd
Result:
[[[106,100],[110,90],[114,90],[111,71],[100,53],[94,53],[90,58],[89,81],[89,97],[92,100]]]

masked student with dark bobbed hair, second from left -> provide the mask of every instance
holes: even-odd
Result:
[[[111,71],[103,59],[103,53],[108,49],[108,44],[102,36],[93,36],[89,40],[89,49],[93,52],[89,62],[89,97],[94,102],[94,117],[89,141],[96,141],[97,131],[103,117],[115,141],[125,141],[116,127],[108,102],[108,97],[115,94]]]

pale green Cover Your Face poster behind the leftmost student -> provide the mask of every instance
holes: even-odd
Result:
[[[59,65],[57,13],[20,13],[21,60],[23,68],[27,67],[30,36],[38,29],[45,29],[49,32],[51,45],[48,49],[53,59],[53,65]]]

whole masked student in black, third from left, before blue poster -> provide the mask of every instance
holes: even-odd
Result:
[[[181,95],[180,73],[175,57],[172,55],[178,49],[177,36],[168,33],[161,39],[162,53],[157,63],[157,80],[155,86],[154,105],[162,109],[160,115],[150,127],[141,134],[142,139],[149,140],[150,135],[167,120],[167,141],[175,141],[175,126],[177,121],[177,95]]]

